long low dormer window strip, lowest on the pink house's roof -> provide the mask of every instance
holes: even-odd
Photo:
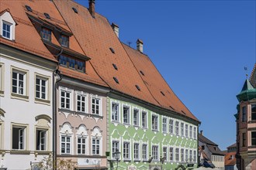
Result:
[[[85,72],[85,61],[82,61],[81,59],[61,55],[59,56],[59,63],[61,64],[61,66],[67,66],[70,69]]]

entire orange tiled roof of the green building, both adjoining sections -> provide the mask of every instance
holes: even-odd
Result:
[[[95,71],[109,87],[158,107],[175,110],[178,114],[198,121],[171,90],[150,59],[134,49],[123,46],[105,17],[95,13],[93,18],[88,8],[70,0],[54,0],[54,3],[78,39],[85,55],[91,58],[90,62]],[[78,13],[73,11],[73,7],[77,8]],[[109,48],[115,52],[112,53]],[[113,63],[118,70],[114,69]],[[143,68],[150,76],[140,76],[138,68]],[[116,83],[113,77],[116,77],[119,83]],[[137,90],[136,85],[140,90]]]

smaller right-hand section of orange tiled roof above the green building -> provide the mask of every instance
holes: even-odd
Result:
[[[155,100],[157,100],[161,107],[169,110],[175,110],[179,114],[198,121],[190,110],[185,107],[185,104],[183,104],[171,90],[168,83],[164,80],[164,77],[161,76],[161,73],[159,73],[148,56],[140,53],[136,49],[130,48],[130,46],[126,46],[125,44],[123,44],[123,47],[126,49],[126,52],[133,61],[134,66],[140,73],[140,76],[144,80],[147,88],[150,90],[150,93],[154,96]]]

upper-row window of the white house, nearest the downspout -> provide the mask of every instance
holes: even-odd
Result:
[[[47,99],[47,80],[36,76],[36,98]]]

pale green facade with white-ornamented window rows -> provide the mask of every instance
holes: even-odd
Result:
[[[107,113],[109,169],[116,169],[117,149],[119,170],[197,166],[198,121],[116,95],[108,97]]]

